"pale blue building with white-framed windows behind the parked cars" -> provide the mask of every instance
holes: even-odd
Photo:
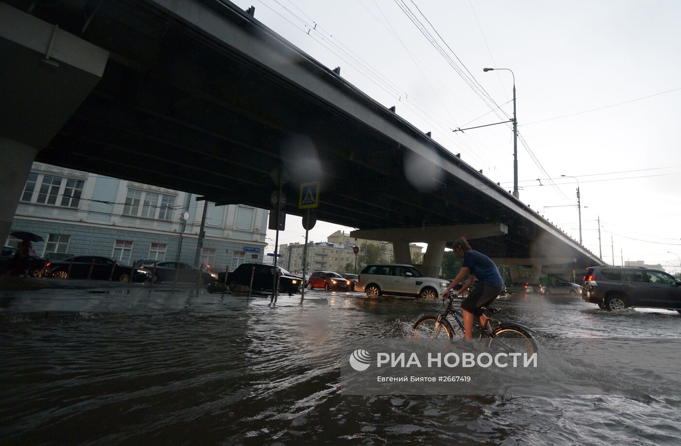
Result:
[[[29,231],[38,255],[90,254],[193,264],[206,202],[197,195],[33,163],[10,232]],[[268,211],[208,203],[201,261],[234,270],[262,261]],[[16,246],[18,240],[5,243]]]

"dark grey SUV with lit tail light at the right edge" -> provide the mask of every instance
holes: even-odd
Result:
[[[582,299],[606,310],[638,306],[681,313],[681,280],[644,267],[592,266],[584,276]]]

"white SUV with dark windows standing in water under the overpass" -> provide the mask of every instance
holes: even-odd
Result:
[[[355,291],[366,293],[369,298],[390,294],[437,298],[449,286],[449,281],[426,277],[411,265],[367,265],[358,275]]]

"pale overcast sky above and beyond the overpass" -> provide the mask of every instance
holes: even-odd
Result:
[[[254,5],[257,20],[323,65],[340,66],[343,78],[396,106],[507,190],[511,127],[452,129],[512,116],[511,73],[482,71],[512,69],[518,131],[529,148],[518,142],[520,200],[578,240],[579,180],[586,248],[599,254],[600,216],[608,263],[614,253],[615,264],[623,258],[680,268],[681,1],[235,3]],[[486,94],[501,106],[501,118]],[[287,217],[286,227],[280,243],[304,240],[300,218]],[[352,228],[320,222],[310,238],[326,240],[337,229]],[[268,239],[274,244],[274,232]]]

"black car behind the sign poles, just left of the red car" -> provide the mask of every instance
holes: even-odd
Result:
[[[302,280],[294,276],[287,270],[279,269],[281,276],[279,277],[279,292],[283,293],[298,293]],[[227,287],[234,291],[236,285],[243,285],[249,287],[251,285],[251,274],[253,274],[253,290],[257,291],[272,291],[274,283],[274,266],[268,264],[241,264],[236,270],[227,274]],[[225,283],[225,273],[218,274],[218,281]]]

